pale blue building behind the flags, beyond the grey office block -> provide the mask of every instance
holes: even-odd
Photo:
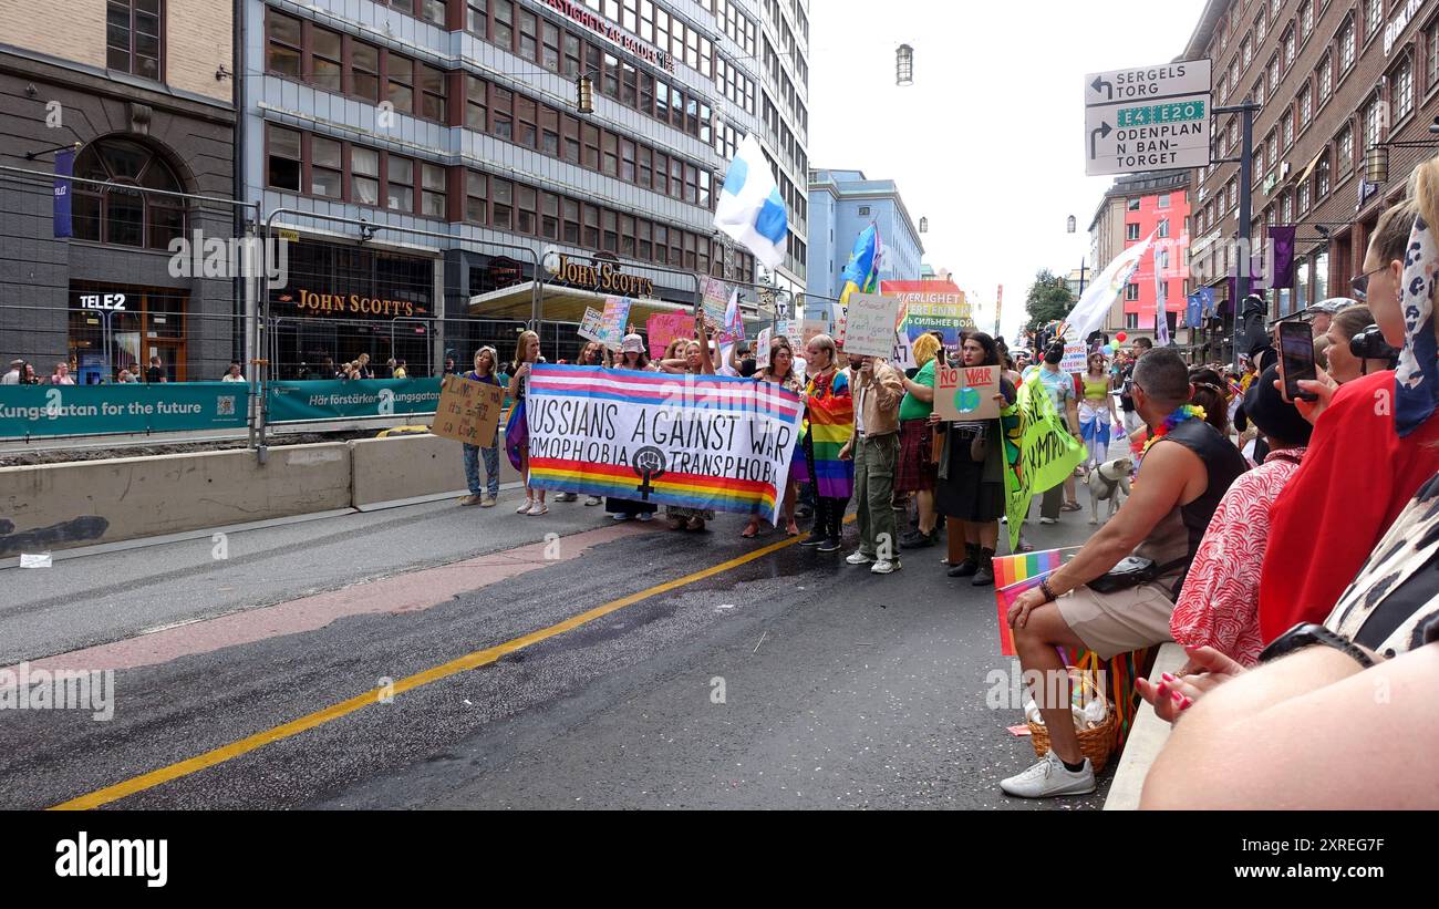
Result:
[[[810,173],[810,236],[813,262],[809,293],[837,298],[839,273],[855,249],[855,237],[869,224],[879,229],[884,255],[881,280],[920,280],[924,245],[894,180],[868,180],[862,171]]]

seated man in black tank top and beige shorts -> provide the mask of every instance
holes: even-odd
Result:
[[[1069,679],[1056,647],[1084,647],[1108,660],[1173,640],[1170,616],[1184,572],[1220,498],[1246,469],[1239,450],[1186,408],[1191,391],[1189,368],[1174,351],[1160,348],[1140,358],[1131,383],[1134,408],[1160,437],[1144,454],[1132,495],[1072,561],[1020,594],[1009,611],[1020,664],[1043,679],[1043,690],[1033,695],[1052,748],[1000,784],[1010,795],[1081,795],[1095,788],[1089,759],[1079,752]],[[1089,587],[1131,555],[1153,561],[1150,577],[1098,584],[1108,593]]]

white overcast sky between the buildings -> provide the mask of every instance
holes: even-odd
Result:
[[[1112,183],[1084,175],[1085,73],[1167,63],[1203,6],[812,0],[810,167],[898,183],[917,229],[930,219],[924,260],[954,272],[986,331],[1004,285],[1013,338],[1035,272],[1068,273],[1088,255]],[[914,47],[908,88],[895,86],[901,43]],[[853,237],[835,240],[848,253]]]

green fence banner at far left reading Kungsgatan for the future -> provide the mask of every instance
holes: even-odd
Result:
[[[243,429],[245,383],[0,385],[0,437]]]

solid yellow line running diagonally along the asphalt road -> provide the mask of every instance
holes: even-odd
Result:
[[[553,624],[548,629],[531,631],[530,634],[505,641],[504,644],[488,647],[485,650],[476,650],[459,659],[450,660],[449,663],[442,663],[439,666],[426,669],[425,672],[419,672],[413,676],[400,679],[389,690],[394,695],[400,695],[403,692],[420,688],[422,685],[439,682],[453,675],[476,669],[479,666],[486,666],[508,653],[514,653],[515,650],[522,650],[530,644],[537,644],[543,640],[548,640],[558,634],[564,634],[566,631],[573,631],[574,629],[586,623],[609,616],[610,613],[622,610],[626,606],[635,606],[636,603],[642,603],[645,600],[649,600],[650,597],[669,593],[671,590],[678,590],[688,584],[694,584],[695,581],[702,581],[708,577],[714,577],[717,574],[730,571],[731,568],[738,568],[740,565],[744,565],[745,562],[753,562],[757,558],[764,558],[771,552],[777,552],[778,549],[794,545],[800,539],[802,539],[800,536],[781,539],[780,542],[770,544],[761,549],[755,549],[754,552],[748,552],[738,558],[731,558],[727,562],[720,562],[718,565],[712,565],[702,571],[686,574],[682,578],[676,578],[673,581],[665,581],[663,584],[648,587],[636,594],[630,594],[619,600],[612,600],[604,606],[597,606],[593,610],[574,616],[573,618],[566,618],[564,621]],[[161,767],[160,769],[153,769],[148,774],[141,774],[138,777],[132,777],[122,782],[108,785],[102,790],[95,790],[94,792],[89,792],[86,795],[81,795],[78,798],[60,803],[58,805],[53,805],[50,811],[82,811],[88,808],[98,808],[112,801],[125,798],[127,795],[134,795],[135,792],[144,792],[145,790],[153,790],[157,785],[170,782],[171,780],[180,780],[181,777],[189,777],[190,774],[206,769],[207,767],[224,764],[226,761],[230,761],[243,754],[249,754],[252,751],[263,748],[265,745],[288,739],[308,729],[322,726],[331,721],[340,719],[341,716],[348,716],[350,713],[361,711],[370,705],[378,703],[380,695],[384,690],[386,689],[378,689],[378,688],[371,689],[363,695],[350,698],[348,700],[341,700],[340,703],[334,703],[322,711],[315,711],[314,713],[308,713],[305,716],[301,716],[299,719],[292,719],[281,726],[265,729],[263,732],[256,732],[255,735],[246,736],[237,742],[232,742],[230,745],[222,745],[220,748],[207,751],[201,755],[189,758],[186,761],[180,761],[168,767]]]

